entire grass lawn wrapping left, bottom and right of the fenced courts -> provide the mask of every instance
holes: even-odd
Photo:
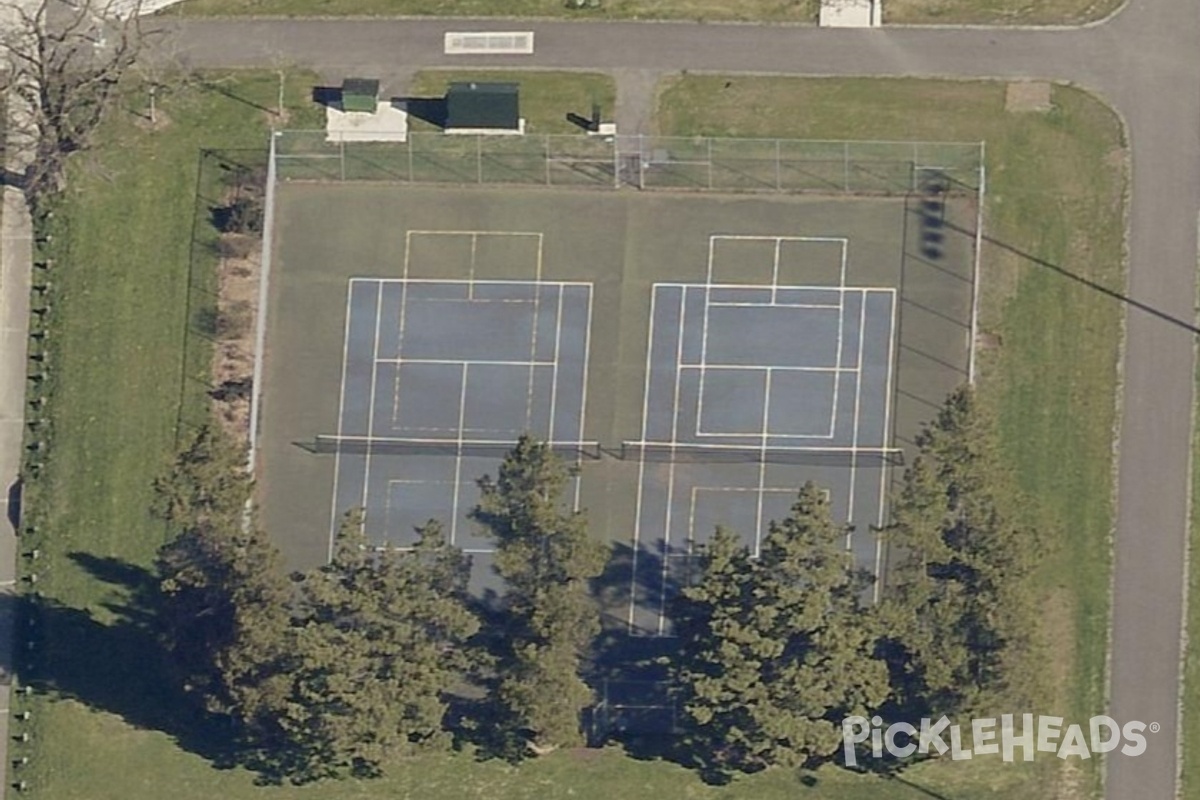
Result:
[[[292,97],[307,85],[294,83]],[[662,127],[986,137],[990,234],[1090,279],[1121,284],[1123,162],[1114,157],[1120,128],[1088,96],[1057,90],[1055,112],[1010,116],[1002,88],[986,84],[805,80],[786,84],[786,95],[780,88],[737,80],[714,104],[701,79],[688,79],[666,94]],[[521,768],[430,756],[394,765],[378,781],[304,789],[259,787],[253,774],[226,768],[222,732],[199,730],[155,681],[137,588],[162,541],[162,527],[146,512],[151,481],[173,453],[181,405],[185,417],[194,419],[204,403],[200,383],[190,377],[204,374],[205,348],[184,347],[196,197],[199,192],[202,215],[217,198],[216,185],[198,178],[202,150],[245,149],[247,158],[260,157],[275,95],[274,73],[161,91],[160,122],[151,131],[134,92],[110,115],[98,149],[78,157],[71,170],[53,243],[53,446],[46,470],[29,487],[38,534],[24,543],[42,553],[36,569],[44,607],[29,633],[41,691],[14,700],[14,710],[34,714],[25,723],[32,740],[11,746],[13,757],[30,757],[20,770],[28,796],[1024,800],[1032,796],[1031,781],[1044,787],[1056,780],[1055,764],[1046,760],[1032,768],[973,762],[968,769],[942,762],[912,769],[902,781],[839,770],[770,771],[708,787],[678,766],[635,762],[617,751],[556,753]],[[780,108],[781,96],[794,108]],[[701,98],[710,106],[703,116],[696,110]],[[767,107],[775,113],[752,110]],[[737,122],[738,115],[758,127]],[[310,107],[293,112],[289,126],[316,122]],[[197,230],[202,239],[211,236],[203,218]],[[1069,681],[1061,682],[1064,696],[1052,708],[1086,717],[1103,702],[1109,569],[1103,542],[1120,309],[1000,246],[986,255],[985,323],[1003,336],[986,365],[988,387],[1003,413],[1009,459],[1037,499],[1038,522],[1062,540],[1046,565],[1045,591],[1061,608],[1051,619],[1061,626],[1054,632],[1075,645]],[[22,561],[25,570],[34,564]],[[1085,776],[1086,790],[1090,781]]]

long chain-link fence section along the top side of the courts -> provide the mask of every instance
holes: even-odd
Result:
[[[907,194],[931,175],[979,191],[982,143],[659,136],[446,136],[326,142],[276,134],[286,181],[396,181],[720,192]]]

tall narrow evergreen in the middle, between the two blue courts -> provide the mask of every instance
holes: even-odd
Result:
[[[508,584],[498,698],[534,752],[577,744],[592,702],[581,678],[600,631],[589,581],[608,551],[590,539],[582,513],[564,510],[570,477],[547,445],[522,437],[496,479],[480,481],[473,513],[496,541],[496,570]]]

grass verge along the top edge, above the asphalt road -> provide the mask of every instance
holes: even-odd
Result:
[[[1121,0],[886,0],[886,23],[1044,25],[1102,19]],[[187,0],[168,13],[307,17],[564,17],[816,23],[820,0],[602,0],[571,8],[565,0]]]

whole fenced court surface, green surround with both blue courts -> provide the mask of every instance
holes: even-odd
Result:
[[[637,630],[662,630],[672,558],[715,523],[756,542],[805,480],[832,489],[877,571],[896,450],[966,379],[974,218],[973,196],[953,193],[283,182],[266,528],[304,567],[348,507],[386,545],[439,517],[492,588],[467,513],[498,461],[458,443],[528,429],[594,443],[575,499],[616,547],[613,619]],[[523,293],[540,311],[522,311]],[[530,333],[536,355],[522,356]],[[362,446],[316,444],[338,434]],[[647,440],[688,455],[634,444]]]

